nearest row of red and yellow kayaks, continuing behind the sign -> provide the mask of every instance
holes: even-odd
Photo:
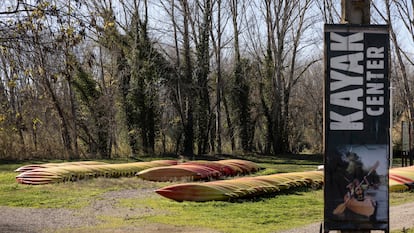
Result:
[[[297,187],[322,187],[323,181],[323,171],[292,172],[203,183],[173,184],[156,192],[175,201],[220,201],[275,194]],[[407,191],[412,188],[414,188],[414,166],[389,170],[391,192]],[[349,205],[352,207],[351,202]]]

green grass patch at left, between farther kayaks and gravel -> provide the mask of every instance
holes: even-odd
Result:
[[[22,164],[0,165],[0,206],[83,208],[97,196],[114,190],[139,188],[138,179],[90,179],[49,185],[18,184],[13,172]]]

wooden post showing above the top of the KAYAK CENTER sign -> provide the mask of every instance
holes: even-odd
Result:
[[[370,24],[371,23],[371,4],[370,0],[342,0],[343,24]],[[341,233],[370,233],[370,230],[361,231],[341,231]]]

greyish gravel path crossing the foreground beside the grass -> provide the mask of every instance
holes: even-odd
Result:
[[[40,209],[0,207],[0,232],[1,233],[38,233],[38,232],[91,232],[91,228],[79,230],[79,227],[99,226],[103,222],[97,218],[100,216],[118,217],[124,219],[142,219],[145,216],[160,214],[159,210],[148,207],[122,208],[118,200],[123,198],[145,197],[152,194],[152,190],[122,190],[108,192],[94,200],[88,207],[81,210],[73,209]],[[391,230],[414,228],[414,203],[393,206],[390,209]],[[283,233],[308,233],[319,232],[320,223],[285,231]],[[65,230],[66,229],[66,230]],[[93,228],[92,228],[93,229]],[[94,232],[94,231],[92,231]],[[145,223],[139,226],[125,226],[121,228],[97,229],[95,232],[141,232],[141,233],[218,233],[211,229],[199,229],[194,227],[181,227],[167,224]]]

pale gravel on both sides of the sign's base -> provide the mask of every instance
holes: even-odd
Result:
[[[280,233],[308,233],[319,232],[321,223],[313,223],[301,228],[291,229]],[[390,230],[414,228],[414,203],[406,203],[390,208]],[[372,231],[372,233],[383,231]]]

